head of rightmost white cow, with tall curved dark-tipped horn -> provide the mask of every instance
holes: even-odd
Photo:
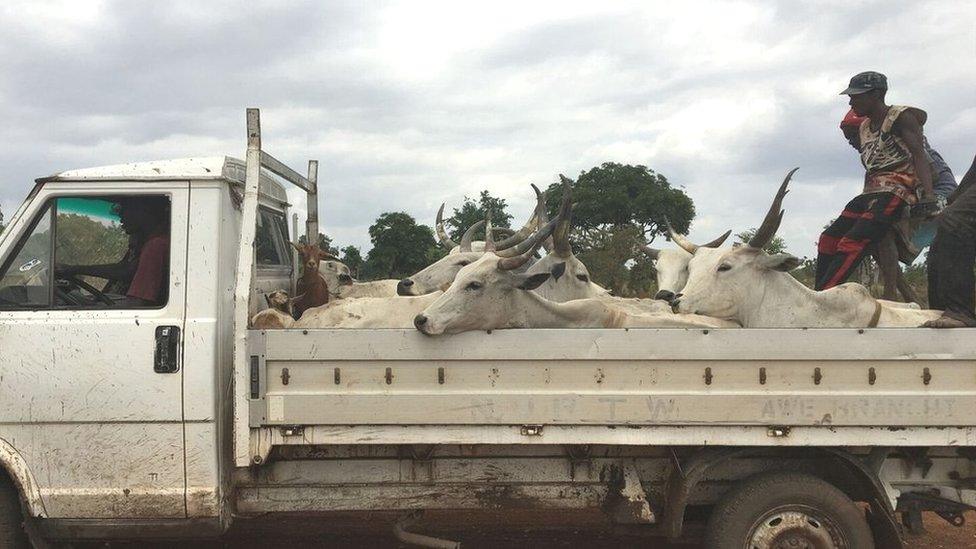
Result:
[[[783,219],[783,198],[794,168],[783,180],[766,214],[766,219],[747,243],[731,249],[695,246],[676,240],[693,257],[688,262],[688,283],[672,305],[681,313],[697,313],[742,320],[744,308],[761,306],[769,276],[792,270],[800,260],[789,254],[769,255],[762,250],[772,240]]]

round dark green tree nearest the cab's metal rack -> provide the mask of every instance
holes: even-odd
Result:
[[[405,278],[423,269],[436,256],[439,246],[434,232],[404,212],[386,212],[369,227],[373,248],[366,255],[363,277]]]

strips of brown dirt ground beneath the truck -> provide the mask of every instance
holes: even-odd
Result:
[[[392,534],[393,518],[377,514],[355,519],[330,517],[309,523],[308,519],[275,518],[273,520],[238,523],[220,541],[179,543],[112,543],[84,544],[81,549],[124,548],[133,549],[300,549],[300,548],[385,548],[408,547],[398,544]],[[465,549],[505,549],[532,547],[533,549],[557,549],[581,547],[586,549],[610,549],[640,547],[642,549],[703,549],[694,540],[669,543],[659,537],[636,533],[636,530],[614,529],[596,515],[569,515],[562,517],[564,524],[572,527],[553,528],[539,524],[541,517],[534,513],[522,514],[516,519],[506,518],[504,524],[493,522],[491,515],[482,515],[463,524],[441,522],[437,515],[427,515],[414,532],[436,535],[444,539],[460,541]],[[964,549],[976,548],[976,513],[968,514],[969,521],[962,527],[954,527],[934,513],[924,517],[927,532],[920,537],[906,540],[912,549]],[[273,539],[273,541],[272,541]]]

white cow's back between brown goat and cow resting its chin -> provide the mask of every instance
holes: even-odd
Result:
[[[294,328],[412,328],[413,319],[441,292],[417,297],[342,299],[305,311]]]

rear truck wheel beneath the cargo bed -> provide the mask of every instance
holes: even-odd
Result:
[[[864,513],[843,492],[802,473],[748,478],[715,506],[709,549],[873,549]]]

